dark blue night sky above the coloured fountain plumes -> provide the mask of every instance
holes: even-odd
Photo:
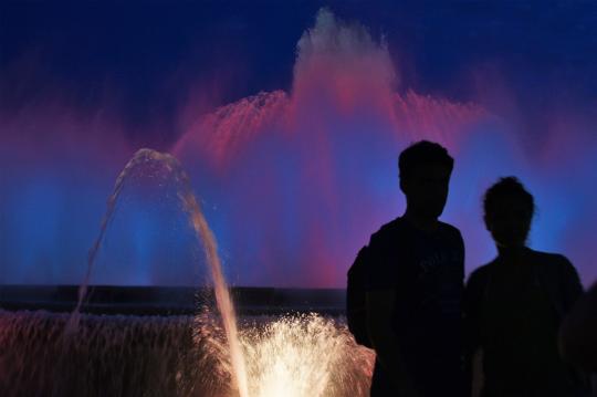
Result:
[[[0,111],[56,94],[90,111],[107,100],[133,139],[167,145],[196,86],[221,104],[290,88],[296,42],[324,6],[386,38],[401,88],[467,101],[471,72],[490,65],[528,114],[597,94],[593,2],[4,1]],[[156,124],[161,136],[144,137]]]

